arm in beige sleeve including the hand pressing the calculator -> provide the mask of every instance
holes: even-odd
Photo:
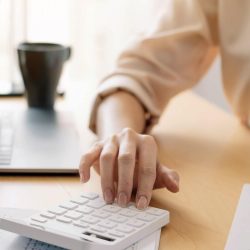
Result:
[[[121,206],[133,188],[138,208],[149,204],[153,188],[178,191],[178,174],[158,163],[156,141],[143,131],[171,97],[199,80],[216,52],[215,1],[171,3],[153,32],[121,54],[115,71],[100,84],[91,113],[90,127],[99,141],[83,155],[80,176],[88,181],[95,166],[104,199],[117,197]]]

